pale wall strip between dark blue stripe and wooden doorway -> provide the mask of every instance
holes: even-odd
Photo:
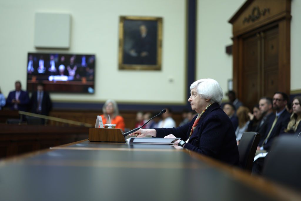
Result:
[[[224,94],[232,79],[232,56],[226,46],[232,45],[232,25],[228,20],[244,4],[244,0],[202,0],[197,5],[197,79],[213,78]],[[224,99],[228,99],[224,95]]]

